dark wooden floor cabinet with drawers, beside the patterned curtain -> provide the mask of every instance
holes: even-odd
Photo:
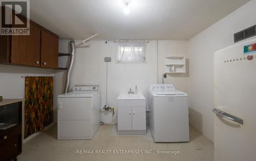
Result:
[[[24,100],[3,99],[0,102],[0,123],[16,124],[0,130],[0,160],[17,160],[17,156],[22,153]]]

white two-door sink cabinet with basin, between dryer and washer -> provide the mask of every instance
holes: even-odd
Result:
[[[119,95],[118,135],[146,133],[146,100],[142,94]]]

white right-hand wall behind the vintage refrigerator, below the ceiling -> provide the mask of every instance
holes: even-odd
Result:
[[[214,140],[214,52],[232,45],[233,34],[256,24],[252,0],[188,41],[190,124]]]

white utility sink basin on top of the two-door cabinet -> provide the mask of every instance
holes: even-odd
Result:
[[[146,106],[146,98],[143,94],[120,94],[117,97],[117,104],[119,107],[128,107],[128,106]]]

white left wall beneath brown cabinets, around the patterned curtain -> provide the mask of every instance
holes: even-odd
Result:
[[[56,73],[54,73],[56,72]],[[25,78],[22,76],[54,76],[54,121],[57,120],[57,95],[62,92],[63,70],[42,69],[0,64],[0,96],[3,98],[25,98]]]

